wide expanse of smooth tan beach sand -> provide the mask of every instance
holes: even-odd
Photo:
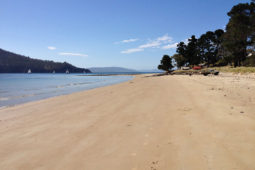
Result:
[[[2,109],[0,169],[254,170],[255,79],[140,75]]]

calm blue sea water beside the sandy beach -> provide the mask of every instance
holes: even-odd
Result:
[[[70,94],[131,80],[133,76],[0,74],[0,107]]]

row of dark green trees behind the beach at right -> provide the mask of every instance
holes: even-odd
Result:
[[[207,66],[255,66],[255,1],[240,3],[227,13],[230,17],[225,31],[207,31],[199,38],[192,35],[188,42],[177,44],[176,54],[164,55],[159,69]],[[164,65],[169,60],[171,64]]]

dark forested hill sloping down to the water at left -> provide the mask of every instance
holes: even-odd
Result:
[[[23,55],[15,54],[0,49],[0,73],[90,73],[89,69],[78,68],[67,62],[60,63],[47,60],[32,59]]]

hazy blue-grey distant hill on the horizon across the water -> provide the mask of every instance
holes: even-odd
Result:
[[[137,70],[122,68],[122,67],[91,67],[89,70],[92,73],[128,73],[138,72]]]

